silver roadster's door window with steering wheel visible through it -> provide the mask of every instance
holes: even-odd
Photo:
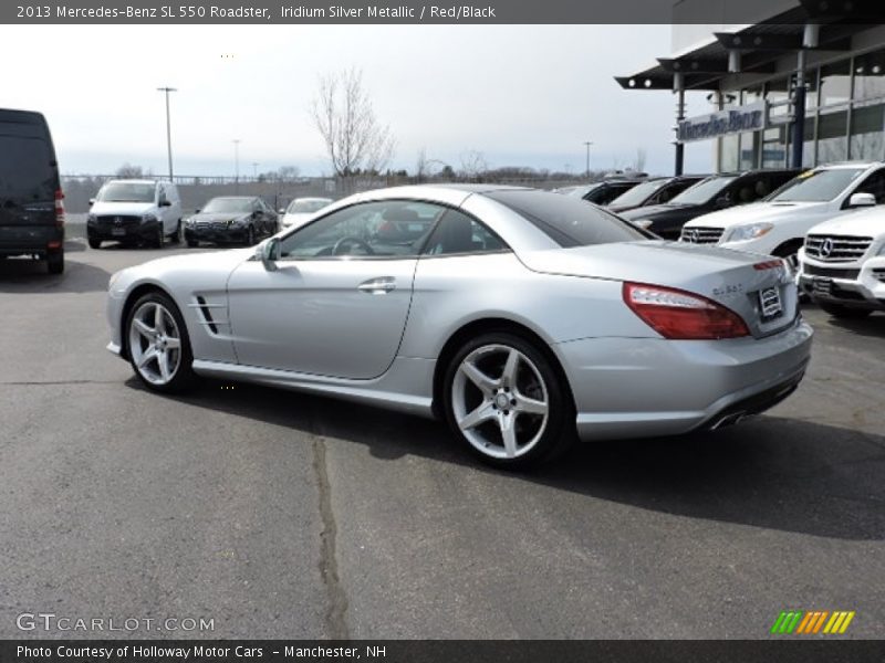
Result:
[[[282,260],[412,257],[446,208],[412,200],[335,210],[283,238]]]

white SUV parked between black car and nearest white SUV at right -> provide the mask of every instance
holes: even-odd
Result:
[[[681,240],[787,257],[805,233],[825,219],[885,202],[885,164],[821,166],[790,180],[764,201],[699,217],[683,228]]]

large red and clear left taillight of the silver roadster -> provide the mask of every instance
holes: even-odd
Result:
[[[700,295],[684,291],[625,283],[624,303],[664,338],[700,340],[749,336],[735,313]]]

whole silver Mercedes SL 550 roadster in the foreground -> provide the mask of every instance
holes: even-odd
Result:
[[[360,193],[257,249],[111,278],[108,349],[144,383],[248,380],[446,419],[486,461],[716,429],[802,379],[782,260],[655,241],[533,189]]]

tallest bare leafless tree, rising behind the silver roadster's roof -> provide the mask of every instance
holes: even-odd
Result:
[[[335,175],[379,172],[391,161],[394,138],[375,117],[360,70],[321,76],[311,112]]]

